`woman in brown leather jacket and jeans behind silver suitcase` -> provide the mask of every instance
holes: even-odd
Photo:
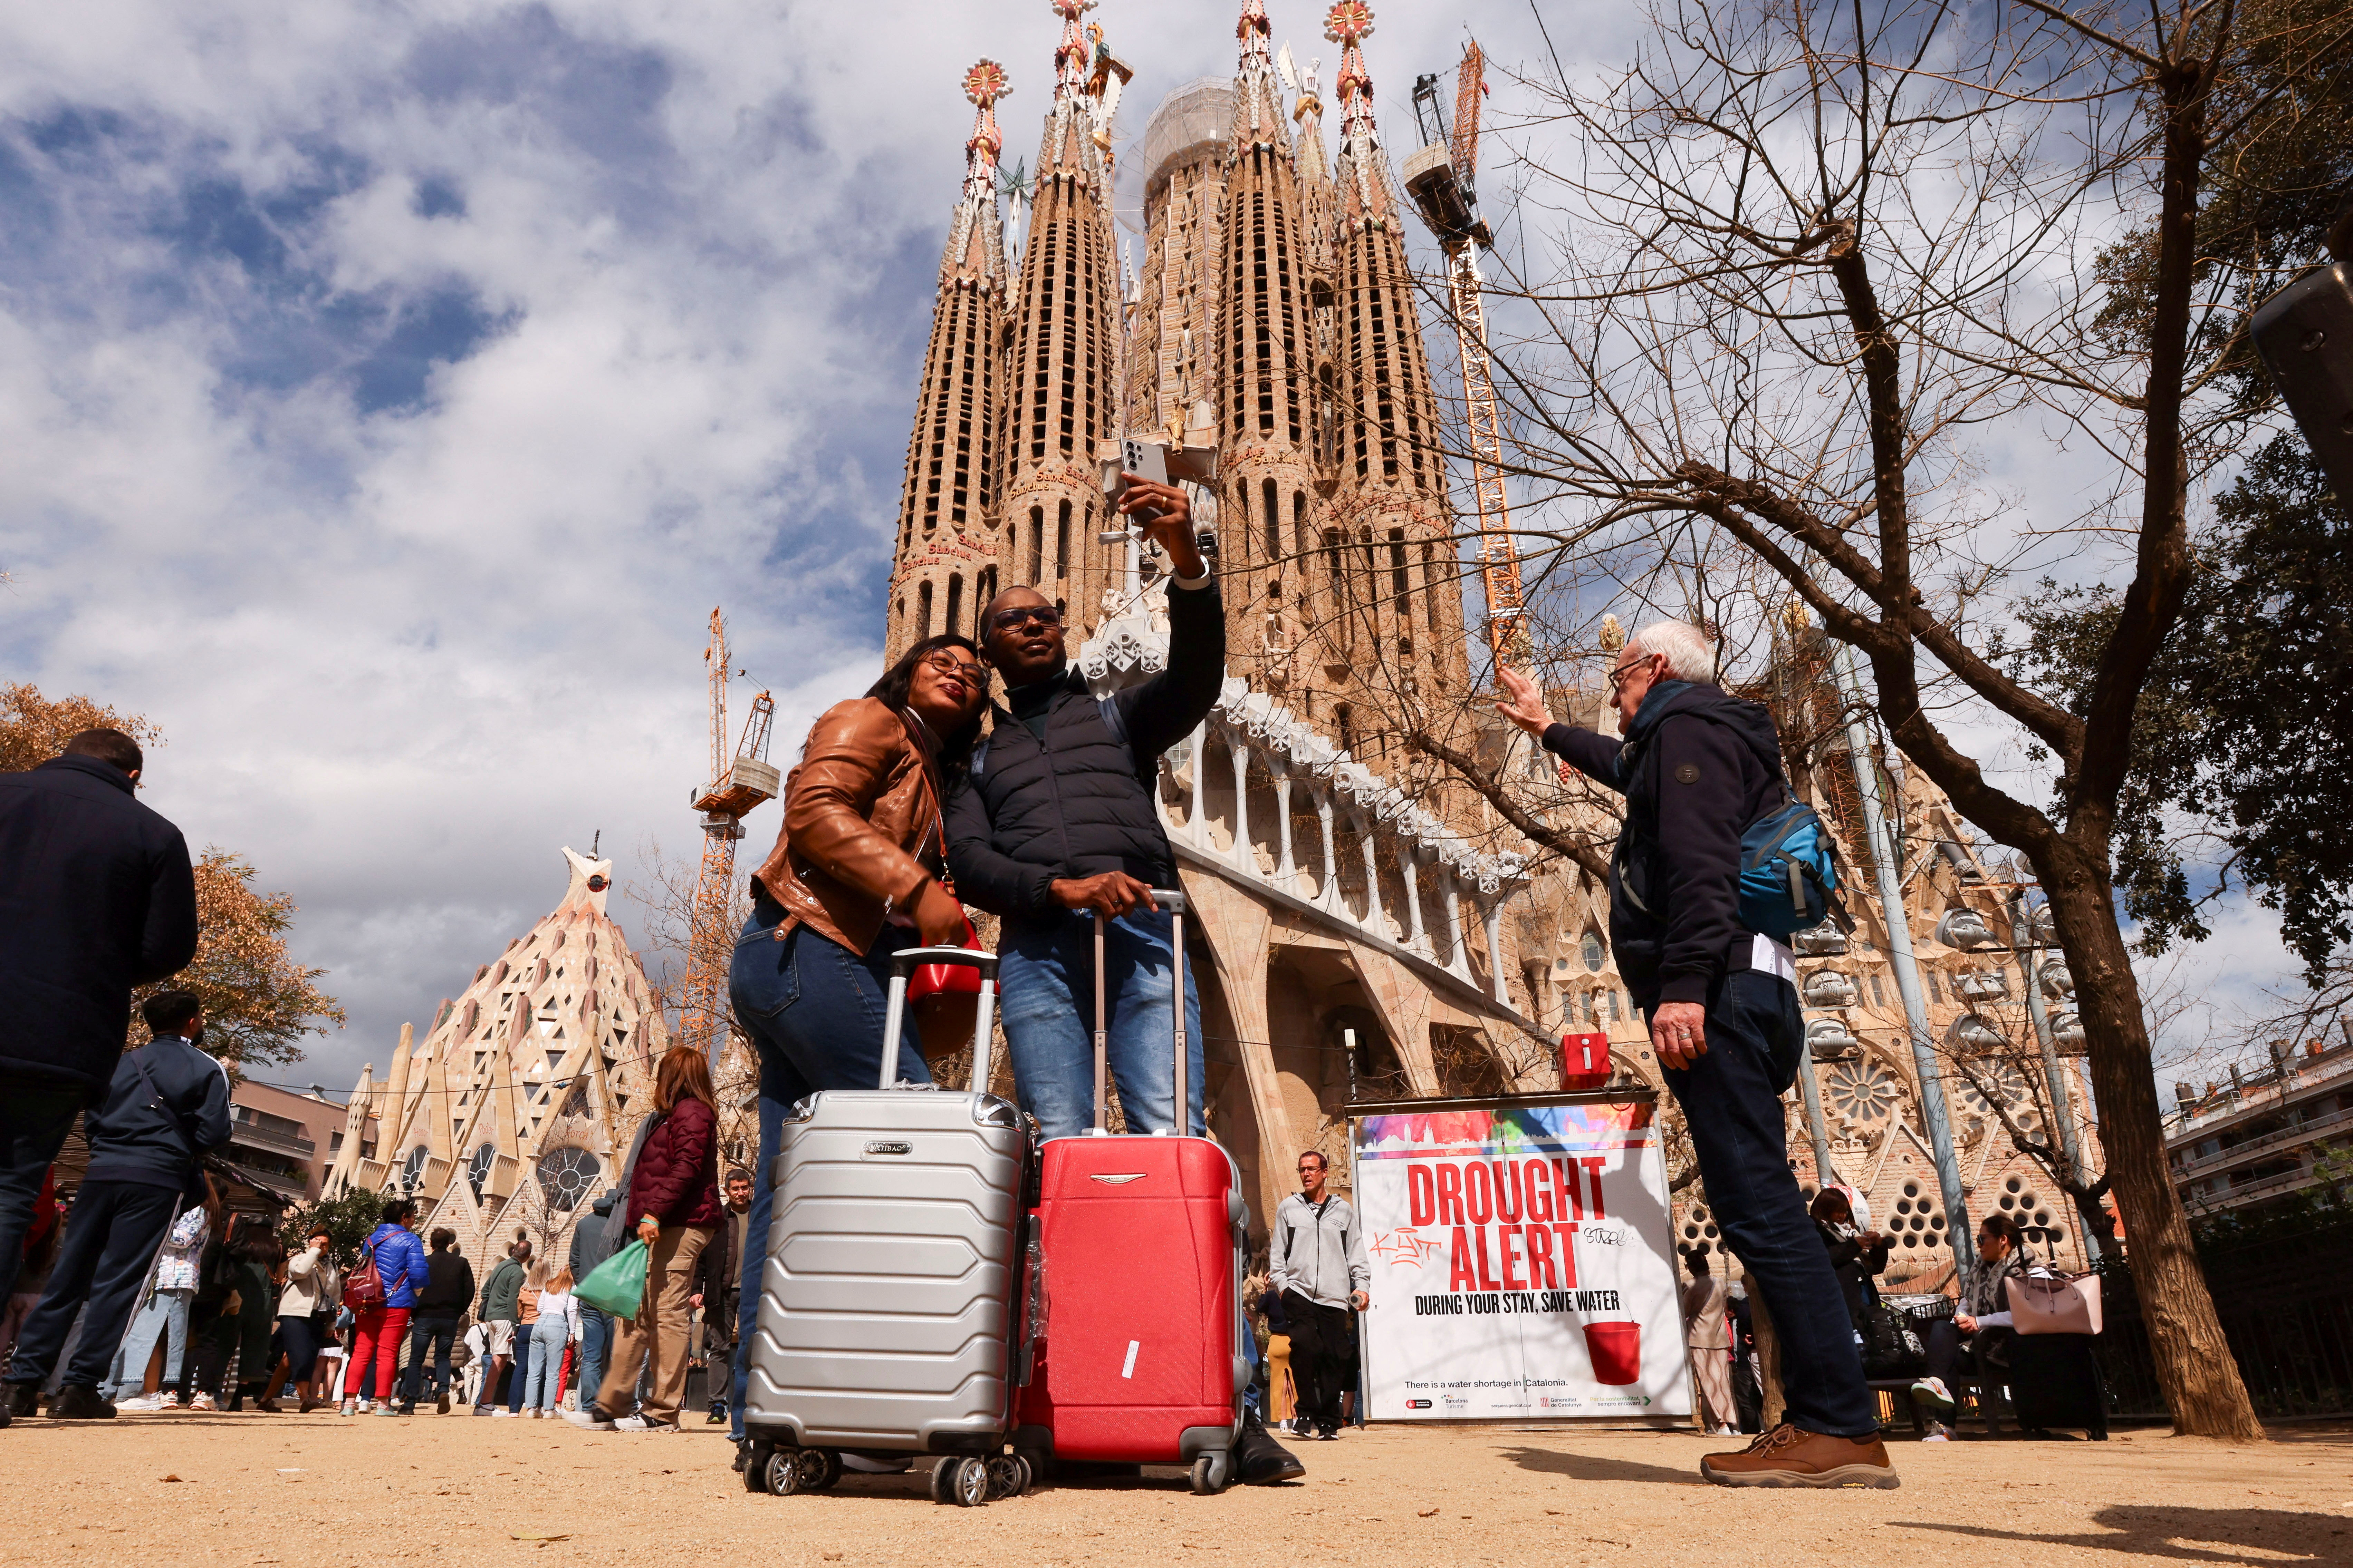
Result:
[[[727,978],[736,1025],[760,1053],[760,1161],[746,1220],[736,1345],[748,1345],[767,1262],[769,1164],[795,1100],[873,1088],[899,947],[965,938],[946,884],[941,802],[988,708],[969,639],[925,637],[866,696],[828,708],[784,783],[784,832],[753,879],[753,912]],[[899,1079],[929,1084],[913,1023]],[[729,1403],[744,1436],[744,1359]]]

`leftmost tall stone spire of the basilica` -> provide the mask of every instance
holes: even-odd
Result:
[[[998,421],[1002,416],[1005,230],[998,219],[995,103],[1012,87],[984,59],[965,73],[972,139],[965,195],[939,259],[939,303],[906,447],[885,658],[932,632],[972,632],[995,592]]]

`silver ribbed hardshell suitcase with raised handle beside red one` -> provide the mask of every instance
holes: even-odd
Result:
[[[932,1495],[967,1507],[1028,1486],[1007,1434],[1035,1124],[991,1093],[896,1084],[920,964],[981,971],[972,1081],[988,1081],[995,954],[908,947],[892,959],[882,1084],[786,1117],[744,1399],[758,1493],[821,1490],[845,1453],[944,1455]]]

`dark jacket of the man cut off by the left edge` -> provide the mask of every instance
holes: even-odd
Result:
[[[96,1103],[132,987],[193,957],[188,842],[132,799],[129,773],[96,757],[0,773],[0,1084]]]

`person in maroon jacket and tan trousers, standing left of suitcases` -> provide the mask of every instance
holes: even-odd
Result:
[[[694,1260],[720,1227],[718,1095],[711,1065],[692,1046],[673,1046],[654,1070],[654,1128],[628,1178],[628,1213],[647,1244],[645,1300],[635,1319],[614,1319],[614,1349],[595,1406],[581,1425],[605,1432],[678,1432],[687,1392],[687,1331],[694,1321]],[[654,1375],[628,1420],[612,1410],[628,1403],[647,1352]]]

